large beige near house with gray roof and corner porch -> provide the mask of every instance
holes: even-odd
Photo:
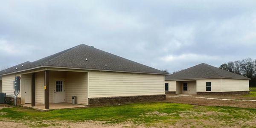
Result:
[[[163,71],[84,44],[0,72],[3,93],[14,95],[21,77],[20,104],[115,105],[165,99]]]

